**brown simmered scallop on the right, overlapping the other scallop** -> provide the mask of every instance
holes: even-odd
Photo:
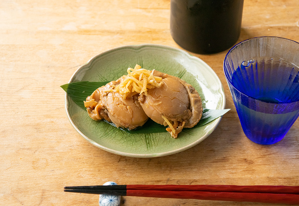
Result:
[[[138,100],[146,115],[155,122],[169,126],[166,130],[173,138],[185,128],[195,126],[202,117],[202,101],[193,86],[178,77],[159,71],[160,87],[140,94]]]

